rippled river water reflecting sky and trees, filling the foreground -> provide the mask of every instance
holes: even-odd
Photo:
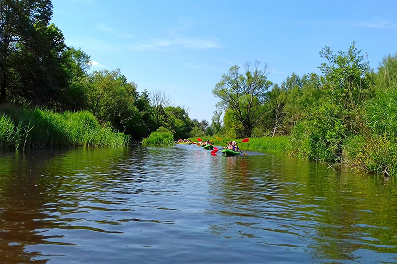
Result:
[[[397,180],[196,146],[0,153],[0,263],[397,263]]]

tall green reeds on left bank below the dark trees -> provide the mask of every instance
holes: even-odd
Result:
[[[56,113],[0,105],[0,148],[124,146],[129,137],[102,126],[88,111]]]

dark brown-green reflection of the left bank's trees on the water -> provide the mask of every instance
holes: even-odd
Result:
[[[118,166],[123,163],[128,166],[129,162],[123,160],[128,160],[129,155],[128,149],[109,148],[27,151],[25,155],[16,153],[13,157],[1,158],[0,260],[6,263],[46,263],[46,260],[34,260],[41,253],[26,252],[26,246],[70,245],[63,240],[63,235],[49,234],[47,230],[109,232],[94,226],[80,226],[76,222],[79,219],[72,215],[90,210],[116,210],[94,208],[94,205],[120,202],[101,198],[99,185],[106,182],[108,186],[118,188]],[[144,166],[143,157],[135,155],[134,168],[137,170]],[[106,223],[117,224],[117,221]]]

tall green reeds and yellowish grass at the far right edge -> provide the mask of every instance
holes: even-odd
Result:
[[[368,102],[359,135],[345,143],[346,159],[369,171],[397,175],[397,87]]]

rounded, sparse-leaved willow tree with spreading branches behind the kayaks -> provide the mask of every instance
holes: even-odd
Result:
[[[253,129],[261,123],[266,112],[266,92],[272,86],[267,80],[267,65],[263,69],[259,66],[259,61],[255,61],[253,66],[247,62],[243,74],[240,73],[239,66],[232,66],[212,90],[220,99],[216,106],[241,122],[242,136],[245,137],[251,137]]]

